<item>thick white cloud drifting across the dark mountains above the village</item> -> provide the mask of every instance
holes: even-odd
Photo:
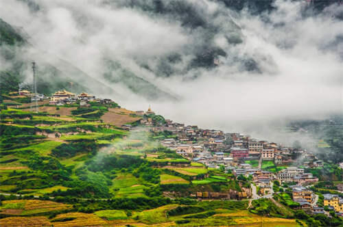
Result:
[[[206,27],[189,29],[173,14],[123,7],[125,1],[36,2],[38,12],[17,1],[1,1],[0,14],[23,27],[38,49],[99,79],[104,57],[117,60],[181,97],[177,103],[145,101],[116,85],[126,96],[118,102],[132,109],[150,103],[158,113],[180,122],[248,133],[265,131],[266,122],[275,120],[343,113],[343,44],[337,41],[343,36],[343,21],[332,16],[342,12],[343,5],[303,16],[303,3],[278,0],[271,14],[252,16],[246,11],[233,13],[215,1],[189,0],[207,22]],[[229,36],[240,36],[243,42],[229,43]],[[187,68],[203,46],[220,47],[227,55],[211,70]],[[172,77],[156,77],[141,67],[145,63],[156,69],[158,61],[171,53],[182,57],[172,66],[176,72]],[[242,59],[254,59],[260,72],[242,70]],[[194,75],[196,79],[189,79]]]

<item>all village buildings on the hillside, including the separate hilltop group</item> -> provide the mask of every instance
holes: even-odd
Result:
[[[105,104],[113,102],[108,98],[96,98],[85,92],[76,95],[66,90],[55,92],[51,97],[43,94],[34,95],[27,90],[19,90],[18,93],[19,96],[31,98],[32,102],[43,101],[46,105],[56,105],[56,107],[75,104],[88,107],[88,102]],[[156,135],[154,139],[160,141],[161,145],[174,150],[176,154],[189,161],[202,163],[207,168],[223,169],[236,177],[251,178],[251,189],[239,193],[237,198],[251,200],[272,198],[274,193],[279,193],[274,188],[274,183],[277,181],[279,185],[283,183],[290,185],[293,201],[300,204],[305,212],[329,215],[323,207],[317,206],[318,195],[309,189],[311,185],[318,182],[318,178],[305,170],[323,166],[322,161],[314,153],[302,148],[254,139],[241,133],[200,129],[196,125],[185,126],[168,119],[154,120],[156,114],[150,107],[147,111],[134,111],[134,116],[139,117],[137,124],[123,124],[121,129],[150,131]],[[303,161],[299,163],[299,160]],[[263,170],[263,162],[272,163],[276,166],[276,170]],[[343,185],[340,186],[343,188]],[[226,198],[226,194],[206,191],[199,191],[190,196],[200,200]],[[343,215],[343,199],[338,195],[324,194],[324,206],[328,206],[338,215]]]

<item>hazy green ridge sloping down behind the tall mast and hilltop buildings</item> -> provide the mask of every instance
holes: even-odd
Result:
[[[0,19],[1,20],[1,19]],[[10,69],[6,73],[1,74],[1,81],[8,81],[10,78],[5,78],[5,76],[11,75],[10,77],[16,77],[15,79],[19,83],[27,82],[28,86],[29,79],[23,77],[23,71],[30,69],[30,64],[32,60],[35,60],[38,68],[38,92],[44,94],[51,94],[56,90],[67,89],[72,92],[96,92],[102,90],[102,95],[104,96],[116,96],[120,97],[120,94],[115,92],[113,88],[108,87],[102,82],[93,79],[89,75],[86,75],[85,72],[76,68],[69,62],[66,62],[58,57],[54,57],[48,53],[43,53],[38,49],[27,50],[25,45],[32,47],[32,44],[29,44],[27,40],[20,34],[20,31],[14,29],[10,24],[5,21],[0,21],[0,44],[3,44],[1,47],[1,55],[10,62]],[[126,74],[128,75],[126,70]],[[116,83],[121,82],[123,85],[127,85],[128,88],[132,91],[148,96],[148,98],[156,99],[159,96],[164,98],[171,98],[169,94],[158,90],[155,85],[139,79],[134,74],[130,73],[127,77],[130,77],[129,80],[125,79],[125,73],[121,72],[122,81],[115,81]],[[104,77],[105,79],[108,77]],[[13,78],[14,79],[14,78]],[[110,80],[109,80],[110,81]],[[131,83],[130,83],[131,82]],[[145,90],[140,90],[139,88],[132,88],[132,85],[144,84]],[[5,86],[5,84],[3,84]],[[27,87],[29,88],[29,87]]]

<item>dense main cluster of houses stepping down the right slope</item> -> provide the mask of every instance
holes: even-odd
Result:
[[[151,109],[147,112],[137,111],[137,115],[145,116],[141,124],[152,126],[152,133],[168,131],[169,136],[161,140],[161,144],[175,150],[190,161],[203,163],[209,168],[220,168],[224,165],[225,170],[230,170],[235,176],[251,176],[252,181],[259,187],[261,196],[272,192],[272,182],[296,183],[293,188],[294,201],[298,202],[302,209],[311,212],[322,212],[321,208],[313,206],[314,193],[303,187],[318,182],[318,178],[311,173],[305,173],[303,168],[288,167],[279,172],[261,170],[263,161],[273,161],[276,166],[292,165],[294,157],[300,157],[305,161],[304,168],[316,168],[322,166],[322,161],[315,155],[305,150],[283,146],[283,144],[269,143],[250,138],[241,133],[224,133],[218,130],[200,129],[198,126],[185,126],[165,120],[164,124],[156,124],[148,114],[154,114]],[[258,162],[259,166],[252,168],[246,161]],[[251,162],[250,162],[251,163]]]

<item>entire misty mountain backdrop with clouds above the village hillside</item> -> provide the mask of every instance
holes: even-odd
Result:
[[[270,125],[343,113],[342,1],[0,2],[1,72],[291,140]]]

